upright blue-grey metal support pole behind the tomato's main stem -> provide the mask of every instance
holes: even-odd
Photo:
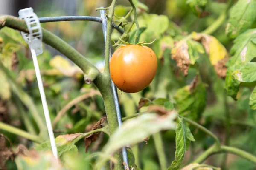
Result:
[[[104,8],[104,7],[100,7],[100,8]],[[100,10],[100,17],[102,18],[102,31],[103,31],[103,35],[104,35],[104,41],[106,44],[106,39],[107,39],[107,18],[105,16],[105,10]],[[110,54],[109,54],[109,58],[111,59],[111,49],[110,49]],[[109,61],[110,62],[110,61]],[[119,100],[118,100],[118,95],[117,95],[117,91],[116,91],[116,86],[113,83],[113,81],[111,80],[111,88],[113,91],[113,96],[114,96],[114,102],[115,102],[115,107],[116,107],[116,114],[117,114],[117,120],[118,120],[118,125],[119,128],[122,126],[122,116],[121,116],[121,111],[120,111],[120,106],[119,106]],[[127,156],[127,151],[126,148],[123,147],[122,148],[122,158],[123,161],[129,166],[128,164],[128,156]]]

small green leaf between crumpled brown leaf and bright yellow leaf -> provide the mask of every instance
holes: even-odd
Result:
[[[199,59],[199,54],[204,54],[204,47],[197,41],[188,40],[189,46],[189,59],[192,65],[195,64],[196,60]]]

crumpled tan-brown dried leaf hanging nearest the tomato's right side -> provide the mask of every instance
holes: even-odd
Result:
[[[172,49],[172,59],[177,62],[177,67],[183,71],[184,76],[188,75],[189,70],[189,46],[185,41],[180,41],[175,44],[175,48]]]

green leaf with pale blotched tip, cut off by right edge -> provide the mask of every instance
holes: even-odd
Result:
[[[256,62],[247,62],[233,72],[233,77],[239,82],[256,81]]]

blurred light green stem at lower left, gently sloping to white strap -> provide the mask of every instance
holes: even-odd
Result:
[[[5,130],[5,131],[10,132],[10,133],[13,133],[13,134],[18,135],[18,136],[22,136],[23,138],[32,140],[33,142],[36,142],[36,143],[39,143],[39,144],[41,142],[43,142],[42,139],[39,136],[27,133],[24,130],[20,130],[16,127],[13,127],[13,126],[8,125],[8,124],[3,123],[3,122],[0,122],[0,129]]]

